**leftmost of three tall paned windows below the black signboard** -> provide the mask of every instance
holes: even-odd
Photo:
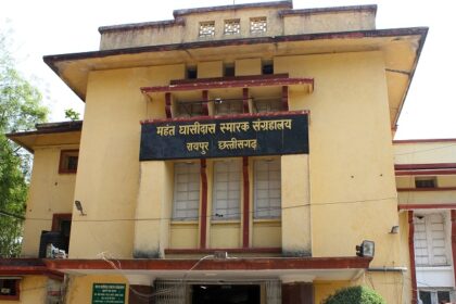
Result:
[[[197,220],[200,208],[199,163],[174,165],[174,220]]]

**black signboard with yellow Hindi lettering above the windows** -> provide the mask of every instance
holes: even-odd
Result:
[[[304,112],[142,124],[140,161],[308,153]]]

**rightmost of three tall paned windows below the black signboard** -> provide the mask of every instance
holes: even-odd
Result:
[[[254,218],[280,218],[280,159],[257,160],[253,169]]]

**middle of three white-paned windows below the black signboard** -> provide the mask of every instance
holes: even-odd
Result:
[[[213,219],[240,218],[241,162],[214,162]]]

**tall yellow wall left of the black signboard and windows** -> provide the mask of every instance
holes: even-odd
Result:
[[[71,257],[92,258],[101,252],[131,257],[140,182],[139,122],[164,116],[163,104],[151,105],[139,88],[183,76],[182,64],[90,74],[75,190],[87,216],[73,218]]]

